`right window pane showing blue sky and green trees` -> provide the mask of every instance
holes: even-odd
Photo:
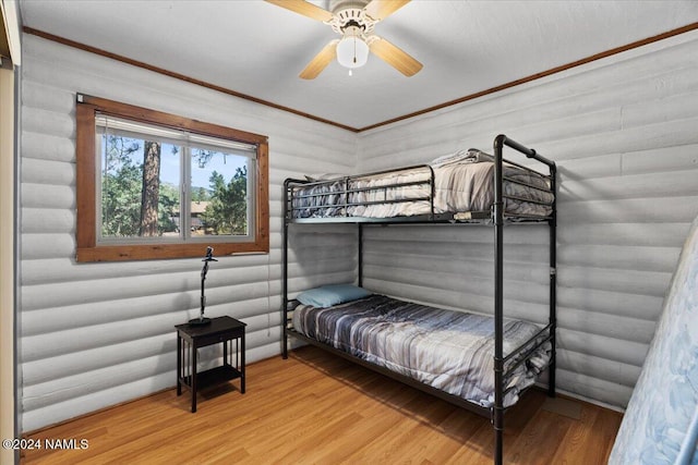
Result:
[[[192,237],[248,236],[249,157],[192,148],[191,216]]]

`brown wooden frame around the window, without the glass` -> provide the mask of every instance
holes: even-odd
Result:
[[[206,252],[205,245],[201,242],[191,243],[182,241],[166,244],[123,245],[97,244],[97,154],[95,127],[95,115],[97,113],[255,145],[257,147],[257,179],[254,193],[256,196],[254,203],[254,240],[250,242],[216,242],[214,246],[217,256],[239,253],[268,254],[269,164],[268,139],[266,136],[79,94],[75,109],[75,151],[77,164],[77,224],[75,232],[77,249],[75,259],[79,262],[200,257],[205,255]]]

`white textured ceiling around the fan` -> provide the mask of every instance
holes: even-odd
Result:
[[[313,2],[327,7],[324,2]],[[298,74],[327,25],[255,0],[22,0],[26,27],[364,129],[698,22],[698,1],[412,0],[375,34],[424,65],[375,57],[349,76]]]

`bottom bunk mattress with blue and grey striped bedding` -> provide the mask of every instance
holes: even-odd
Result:
[[[327,308],[301,304],[293,310],[293,329],[482,407],[494,405],[492,317],[373,294]],[[533,323],[505,319],[504,355],[540,330]],[[515,404],[519,393],[534,383],[550,355],[551,344],[545,342],[505,379],[505,406]]]

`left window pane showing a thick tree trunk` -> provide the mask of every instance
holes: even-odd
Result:
[[[178,237],[181,148],[113,133],[100,147],[100,237]]]

